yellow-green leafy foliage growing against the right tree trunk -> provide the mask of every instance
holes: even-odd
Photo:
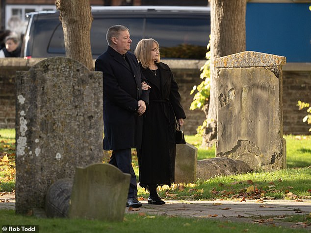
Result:
[[[210,44],[207,45],[207,53],[206,53],[206,63],[203,67],[201,67],[201,75],[200,78],[203,81],[198,86],[193,86],[190,94],[193,94],[197,91],[193,96],[193,101],[190,105],[190,110],[202,109],[204,105],[208,103],[209,99],[209,90],[210,90]]]

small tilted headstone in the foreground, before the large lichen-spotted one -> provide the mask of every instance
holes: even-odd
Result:
[[[129,186],[130,174],[111,164],[77,167],[69,217],[122,221]]]

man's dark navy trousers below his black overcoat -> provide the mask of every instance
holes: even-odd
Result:
[[[137,197],[137,181],[132,167],[131,149],[113,150],[109,163],[118,167],[123,173],[130,174],[131,178],[128,198]]]

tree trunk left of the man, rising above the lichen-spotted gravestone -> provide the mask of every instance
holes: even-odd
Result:
[[[66,57],[73,58],[93,69],[91,51],[91,14],[90,0],[56,0],[60,11],[59,19],[63,25]]]

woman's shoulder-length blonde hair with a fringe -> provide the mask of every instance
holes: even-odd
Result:
[[[140,61],[143,68],[147,69],[151,64],[154,63],[152,60],[152,52],[151,49],[154,47],[154,43],[156,43],[156,46],[159,48],[159,43],[155,39],[149,38],[149,39],[142,39],[138,42],[136,48],[135,48],[135,55]],[[156,60],[156,63],[160,62],[160,54]]]

